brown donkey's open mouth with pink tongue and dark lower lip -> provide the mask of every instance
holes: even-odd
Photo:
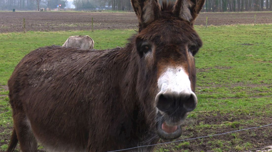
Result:
[[[160,113],[157,114],[157,134],[160,138],[171,140],[180,137],[181,135],[181,124],[180,125],[169,125]],[[181,121],[182,123],[182,121]]]

